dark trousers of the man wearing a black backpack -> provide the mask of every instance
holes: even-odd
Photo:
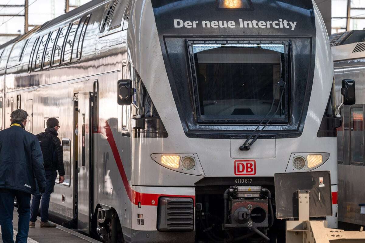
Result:
[[[41,204],[41,221],[46,223],[48,221],[49,199],[53,192],[54,184],[57,178],[56,171],[46,171],[46,191],[42,195],[36,195],[32,198],[32,207],[30,209],[30,221],[37,220],[39,204]]]

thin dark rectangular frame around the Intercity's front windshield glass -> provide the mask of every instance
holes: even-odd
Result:
[[[193,91],[193,101],[194,101],[194,109],[195,109],[195,118],[197,123],[207,124],[207,123],[236,123],[236,124],[258,124],[262,118],[257,119],[247,119],[247,118],[239,118],[239,119],[227,119],[227,118],[214,118],[214,119],[204,119],[201,117],[200,114],[200,97],[198,91],[198,81],[197,81],[197,70],[196,70],[196,59],[193,51],[194,44],[280,44],[284,46],[284,62],[282,63],[282,74],[283,80],[287,83],[285,87],[285,92],[283,96],[283,103],[285,104],[285,112],[284,112],[284,119],[273,119],[270,124],[288,124],[290,119],[290,95],[291,95],[291,83],[289,79],[289,42],[288,41],[274,41],[274,40],[188,40],[187,46],[189,51],[189,60],[190,60],[190,67],[191,67],[191,78],[192,78],[192,91]],[[272,113],[274,112],[274,109]],[[270,114],[272,114],[270,113]],[[271,115],[269,115],[270,117]]]

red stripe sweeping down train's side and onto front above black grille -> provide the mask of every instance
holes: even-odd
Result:
[[[171,197],[191,197],[193,200],[195,200],[195,196],[184,196],[184,195],[165,195],[165,194],[152,194],[152,193],[141,193],[134,191],[131,186],[129,185],[126,171],[124,170],[124,166],[122,163],[122,159],[120,158],[120,154],[118,151],[118,147],[116,146],[112,130],[108,124],[107,121],[105,121],[105,126],[103,128],[98,128],[97,133],[103,134],[105,137],[107,137],[107,141],[110,145],[110,148],[112,150],[116,165],[118,166],[119,174],[122,177],[124,188],[126,189],[127,195],[129,200],[135,204],[138,205],[139,202],[141,202],[141,205],[150,205],[150,206],[157,206],[158,198],[160,196],[171,196]]]

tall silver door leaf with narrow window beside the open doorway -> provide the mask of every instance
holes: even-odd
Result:
[[[90,93],[78,93],[78,220],[77,227],[90,234],[91,223],[91,116]]]

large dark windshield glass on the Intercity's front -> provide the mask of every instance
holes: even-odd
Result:
[[[282,43],[191,44],[198,121],[258,122],[272,104],[273,114],[282,90],[277,83],[285,81],[285,50]],[[273,122],[288,120],[287,93]]]

